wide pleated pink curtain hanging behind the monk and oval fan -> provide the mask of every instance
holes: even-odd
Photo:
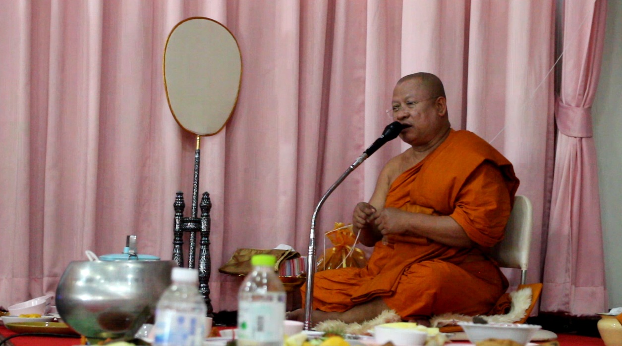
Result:
[[[170,114],[162,52],[191,16],[225,24],[243,55],[236,112],[201,144],[215,311],[236,309],[238,279],[217,272],[236,248],[307,252],[315,204],[391,121],[394,83],[414,71],[442,78],[455,129],[514,163],[538,244],[552,174],[552,0],[0,1],[10,47],[0,50],[0,305],[53,293],[68,262],[117,253],[128,234],[139,252],[170,258],[195,138]],[[353,172],[318,229],[349,222],[404,148],[388,143]]]

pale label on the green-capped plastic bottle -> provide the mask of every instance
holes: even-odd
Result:
[[[283,342],[285,294],[249,294],[238,307],[238,339]]]

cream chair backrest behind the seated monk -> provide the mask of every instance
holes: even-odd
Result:
[[[522,270],[521,283],[525,285],[531,246],[532,207],[525,196],[514,197],[514,207],[505,229],[505,237],[493,247],[491,256],[504,268]]]

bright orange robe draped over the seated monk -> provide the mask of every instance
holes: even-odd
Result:
[[[518,184],[511,163],[491,145],[452,130],[434,152],[397,177],[385,207],[451,216],[476,247],[390,236],[387,245],[376,243],[365,268],[317,273],[313,308],[341,312],[382,297],[403,319],[490,311],[508,281],[485,253],[503,238]]]

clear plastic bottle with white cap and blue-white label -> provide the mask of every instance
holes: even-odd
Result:
[[[152,346],[202,346],[207,306],[198,291],[198,270],[176,267],[171,279],[157,303]]]

